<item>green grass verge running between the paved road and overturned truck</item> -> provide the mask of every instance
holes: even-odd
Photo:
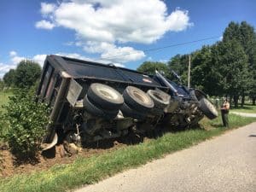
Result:
[[[247,125],[255,118],[244,118],[230,114],[232,129]],[[202,120],[208,131],[195,129],[167,133],[158,139],[145,143],[119,148],[112,152],[97,154],[90,158],[78,158],[72,164],[53,166],[48,171],[15,175],[0,180],[0,191],[65,191],[83,184],[96,183],[126,169],[141,166],[150,160],[159,159],[166,154],[195,145],[226,131],[220,119]]]

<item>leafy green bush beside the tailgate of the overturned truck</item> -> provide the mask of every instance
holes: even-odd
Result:
[[[36,102],[32,92],[15,90],[15,96],[9,97],[9,103],[4,107],[4,118],[9,121],[9,128],[3,137],[18,158],[36,157],[48,124],[49,108]]]

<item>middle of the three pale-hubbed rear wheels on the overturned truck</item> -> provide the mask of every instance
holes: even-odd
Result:
[[[154,102],[143,91],[137,87],[127,86],[123,93],[125,103],[138,112],[147,113],[151,108],[154,108]]]

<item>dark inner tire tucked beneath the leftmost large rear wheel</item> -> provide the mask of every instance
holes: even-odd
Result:
[[[101,117],[102,119],[114,119],[119,113],[119,110],[105,111],[102,108],[96,107],[92,102],[90,102],[87,95],[84,96],[84,107],[85,111],[92,115],[96,115],[97,117]]]

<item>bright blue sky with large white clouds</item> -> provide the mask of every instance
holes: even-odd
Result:
[[[255,10],[255,0],[1,0],[0,78],[52,54],[131,69],[166,62],[221,40],[230,21],[256,28]]]

